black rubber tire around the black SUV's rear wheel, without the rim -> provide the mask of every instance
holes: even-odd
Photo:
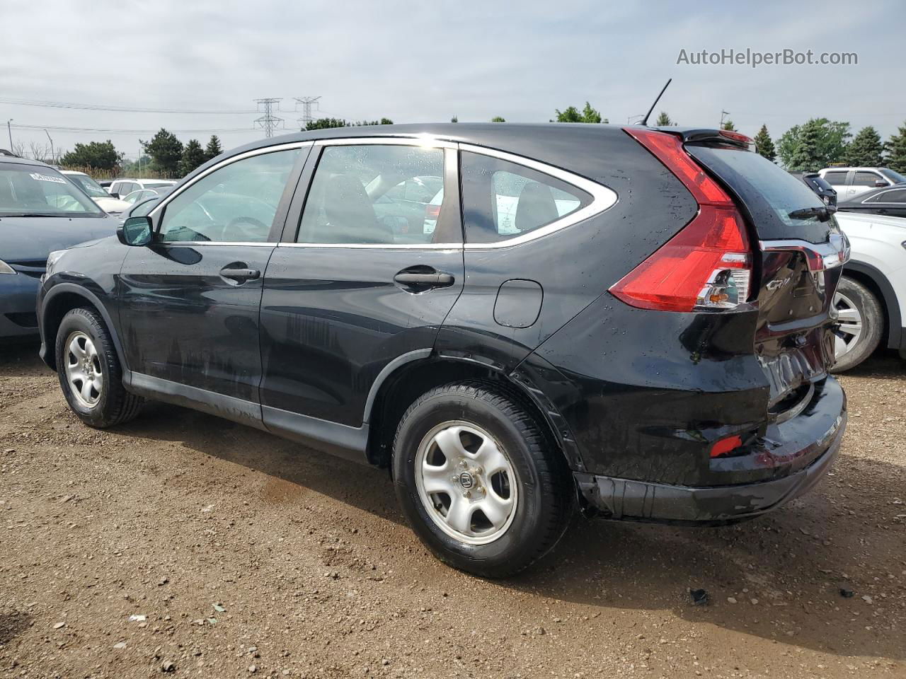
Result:
[[[483,429],[515,472],[508,527],[487,544],[449,535],[419,496],[419,445],[445,423]],[[397,499],[419,539],[448,565],[484,578],[506,578],[531,566],[554,548],[573,517],[573,486],[562,455],[518,397],[491,383],[448,384],[419,397],[400,420],[392,464]],[[480,485],[477,490],[488,493]]]

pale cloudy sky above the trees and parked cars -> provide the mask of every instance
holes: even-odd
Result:
[[[574,0],[517,2],[276,2],[275,0],[0,0],[0,123],[13,138],[56,148],[112,139],[128,157],[145,131],[218,132],[225,148],[262,136],[255,113],[144,113],[30,106],[251,111],[282,97],[321,96],[320,115],[397,122],[546,121],[585,100],[615,123],[658,109],[680,124],[717,125],[721,110],[744,132],[772,136],[809,117],[906,124],[902,3],[819,5],[762,0],[683,4]],[[689,9],[694,7],[694,9]],[[694,65],[681,50],[857,53],[857,65]],[[35,127],[23,127],[35,126]],[[190,130],[190,131],[182,131]],[[198,130],[198,131],[194,131]],[[8,146],[0,129],[0,147]]]

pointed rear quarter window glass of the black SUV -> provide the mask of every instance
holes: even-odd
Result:
[[[592,202],[572,184],[501,158],[463,151],[459,167],[467,243],[528,234]]]

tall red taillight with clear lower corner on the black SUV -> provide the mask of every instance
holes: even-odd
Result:
[[[736,309],[748,297],[752,260],[746,225],[733,199],[689,157],[679,137],[650,129],[625,131],[689,189],[699,213],[610,292],[640,309]]]

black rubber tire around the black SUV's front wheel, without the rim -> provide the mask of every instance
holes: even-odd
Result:
[[[98,395],[97,402],[90,406],[76,395],[66,369],[71,361],[68,345],[72,341],[71,338],[75,337],[77,333],[84,333],[92,340],[97,352],[97,358],[92,360],[92,370],[100,372],[103,379],[101,390],[93,392]],[[57,377],[60,378],[63,396],[66,397],[66,402],[72,412],[79,416],[82,422],[88,426],[103,429],[121,425],[138,416],[143,402],[142,398],[130,394],[122,386],[120,359],[113,347],[110,330],[107,330],[104,321],[96,311],[82,308],[68,311],[60,321],[54,352]]]

